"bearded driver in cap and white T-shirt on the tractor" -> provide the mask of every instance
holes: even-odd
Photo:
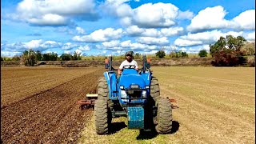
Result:
[[[118,76],[122,74],[123,66],[135,66],[135,70],[138,71],[138,63],[133,60],[134,58],[134,52],[128,51],[126,52],[126,60],[121,63],[121,65],[118,68]]]

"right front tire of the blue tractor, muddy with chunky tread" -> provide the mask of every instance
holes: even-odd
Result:
[[[168,134],[172,129],[172,108],[168,99],[158,99],[158,114],[156,130],[159,134]]]

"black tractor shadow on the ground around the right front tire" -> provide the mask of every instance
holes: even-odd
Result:
[[[177,121],[173,121],[173,126],[170,134],[176,133],[178,129],[179,129],[179,123]],[[151,130],[140,130],[140,133],[136,139],[137,140],[152,139],[157,136],[158,136],[158,132],[154,128],[152,128]]]

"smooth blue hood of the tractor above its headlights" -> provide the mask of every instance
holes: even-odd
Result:
[[[120,77],[119,86],[129,88],[131,85],[138,85],[139,88],[145,88],[146,83],[140,74],[127,74]]]

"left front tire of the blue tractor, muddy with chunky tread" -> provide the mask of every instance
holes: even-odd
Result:
[[[97,134],[108,134],[111,124],[110,111],[107,102],[97,99],[94,105],[95,129]]]

